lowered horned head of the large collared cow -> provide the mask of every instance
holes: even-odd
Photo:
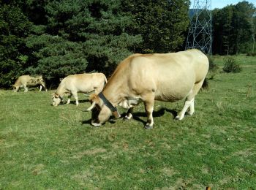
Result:
[[[91,107],[87,111],[91,111],[91,125],[101,126],[102,123],[108,121],[112,112],[97,94],[91,94],[90,101]]]

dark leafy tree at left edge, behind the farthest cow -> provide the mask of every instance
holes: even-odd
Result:
[[[26,15],[19,7],[1,4],[0,7],[0,86],[10,88],[28,66],[24,39],[31,29]]]

